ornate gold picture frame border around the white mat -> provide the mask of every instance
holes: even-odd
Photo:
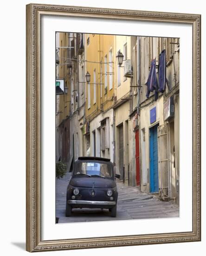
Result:
[[[40,219],[40,18],[41,15],[191,24],[193,27],[193,231],[42,241]],[[91,7],[26,6],[26,250],[85,249],[200,241],[200,20],[199,14]]]

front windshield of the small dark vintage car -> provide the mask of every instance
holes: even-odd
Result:
[[[101,176],[110,178],[112,170],[107,163],[98,162],[79,162],[74,171],[74,175]]]

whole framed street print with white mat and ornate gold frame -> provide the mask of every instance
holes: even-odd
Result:
[[[200,15],[26,6],[26,249],[200,241]]]

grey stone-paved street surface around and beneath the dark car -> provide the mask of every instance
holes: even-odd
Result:
[[[116,218],[107,209],[73,209],[71,217],[65,217],[66,187],[71,173],[56,180],[56,216],[58,223],[114,221],[149,218],[171,218],[179,216],[179,207],[173,202],[162,202],[154,195],[140,192],[138,187],[122,187],[118,184]]]

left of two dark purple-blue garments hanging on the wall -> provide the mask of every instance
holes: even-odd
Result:
[[[151,68],[149,70],[149,76],[148,76],[148,81],[146,82],[146,85],[148,87],[148,91],[146,94],[146,97],[149,97],[150,92],[153,92],[155,90],[155,94],[158,93],[158,83],[157,83],[157,74],[156,74],[156,59],[152,60],[151,62]],[[156,100],[155,95],[155,100]]]

